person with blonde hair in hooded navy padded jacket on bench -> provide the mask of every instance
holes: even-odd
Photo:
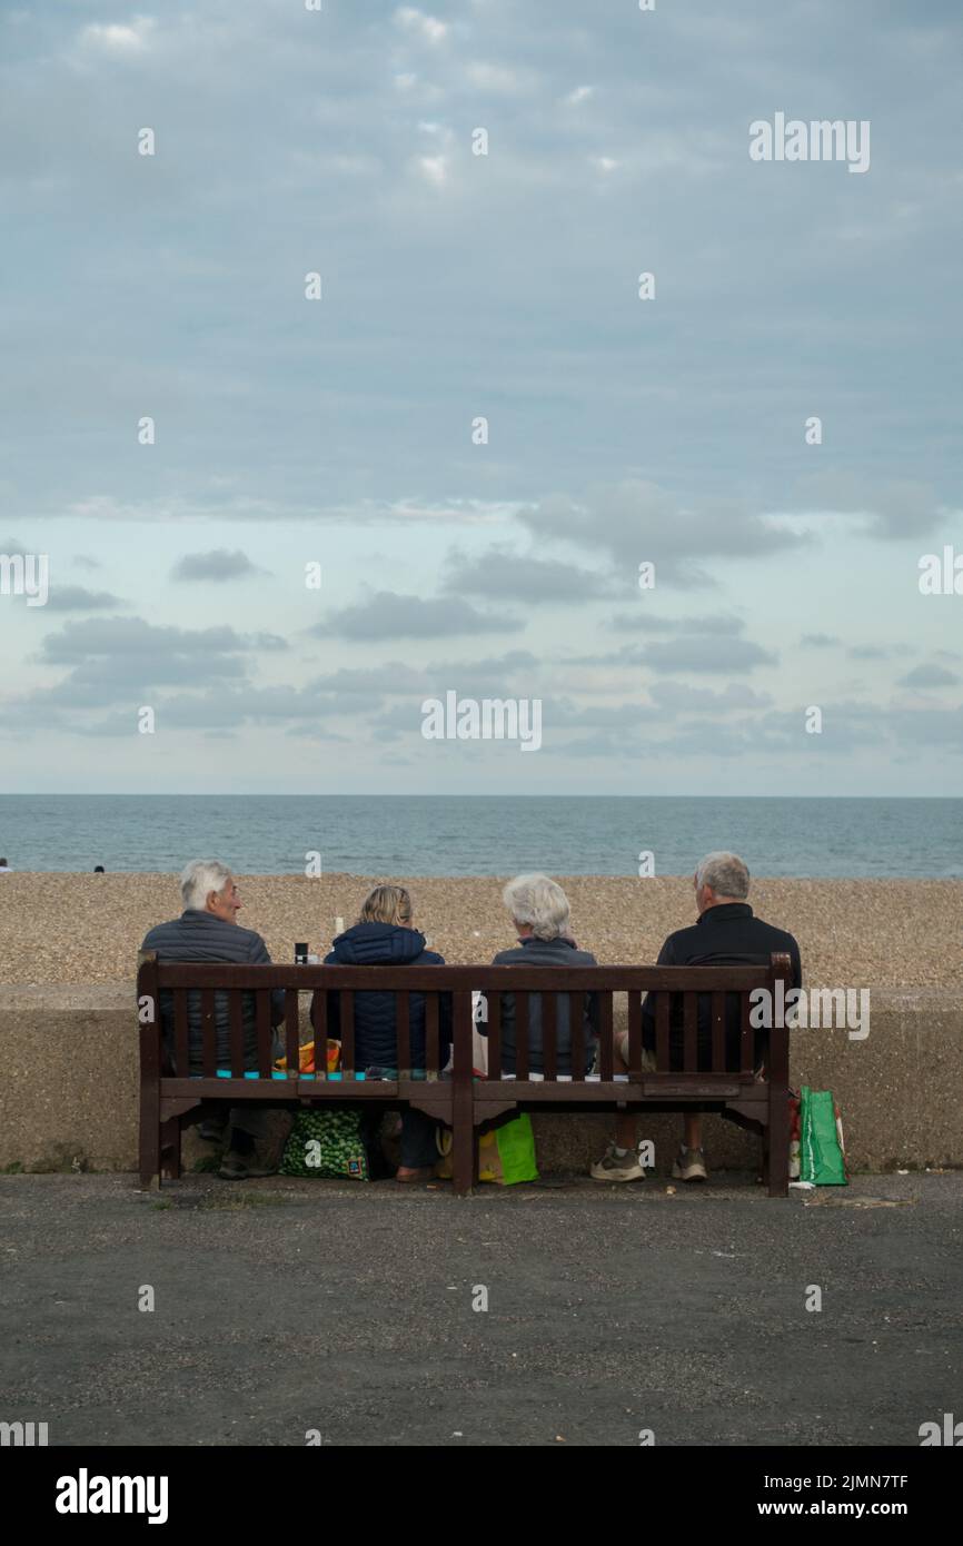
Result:
[[[413,928],[411,895],[403,886],[376,886],[362,903],[357,923],[332,940],[325,966],[444,966],[445,959],[425,949],[425,935]],[[311,1003],[315,1022],[317,994]],[[340,993],[326,997],[328,1036],[343,1036],[340,1023]],[[408,1034],[411,1073],[425,1068],[425,997],[408,997]],[[439,1070],[451,1050],[451,997],[439,996]],[[354,1067],[369,1078],[394,1078],[397,1070],[397,1028],[394,993],[354,994]],[[408,1076],[408,1071],[402,1074]],[[377,1141],[382,1113],[369,1107],[363,1112],[363,1136],[368,1147]],[[424,1112],[402,1112],[402,1163],[396,1181],[430,1181],[437,1164],[434,1141],[437,1122]]]

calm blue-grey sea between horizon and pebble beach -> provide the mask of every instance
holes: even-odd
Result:
[[[963,799],[468,798],[348,795],[0,795],[14,870],[688,875],[711,849],[754,875],[960,877]],[[2,884],[2,883],[0,883]]]

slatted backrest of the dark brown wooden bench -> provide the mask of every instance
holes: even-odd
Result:
[[[325,1078],[328,994],[339,994],[340,1040],[342,1040],[342,1071],[356,1071],[356,1033],[354,1033],[354,994],[363,991],[396,994],[396,1039],[397,1068],[405,1078],[411,1070],[411,1025],[410,996],[424,996],[425,1002],[425,1059],[424,1078],[437,1079],[444,1068],[441,1025],[447,1020],[442,1016],[441,999],[448,996],[451,1028],[453,1028],[453,1071],[454,1078],[471,1078],[473,1048],[473,994],[485,996],[487,1019],[485,1031],[488,1042],[490,1078],[496,1079],[501,1070],[502,1050],[502,994],[510,993],[515,1006],[515,1073],[518,1081],[529,1076],[530,1047],[529,1023],[532,997],[538,996],[541,1020],[539,1059],[546,1081],[558,1078],[558,1025],[560,1000],[567,999],[567,1023],[570,1028],[570,1048],[563,1056],[572,1068],[570,1081],[584,1079],[584,1022],[583,1013],[586,994],[594,996],[594,1023],[598,1028],[598,1078],[601,1082],[614,1079],[612,1056],[612,1023],[615,996],[626,996],[626,1027],[629,1051],[629,1081],[643,1078],[641,1057],[641,999],[649,994],[649,1005],[654,1010],[655,1022],[655,1059],[658,1073],[671,1071],[671,1044],[674,1028],[677,1028],[682,1044],[682,1070],[674,1071],[683,1076],[697,1078],[705,1073],[699,1068],[699,1027],[700,1000],[703,1006],[703,1027],[708,1011],[708,1036],[711,1039],[711,1073],[739,1074],[751,1078],[756,1053],[756,1033],[751,1023],[750,994],[765,988],[770,993],[770,1003],[779,1003],[779,982],[782,993],[791,985],[791,966],[788,955],[773,955],[765,966],[235,966],[235,965],[185,965],[168,962],[161,965],[153,954],[141,959],[138,971],[138,1002],[142,1027],[141,1057],[142,1071],[162,1076],[165,1071],[165,1054],[161,1039],[161,994],[172,996],[173,1036],[172,1056],[173,1068],[187,1074],[189,1051],[192,1044],[192,1019],[195,1027],[199,1022],[202,1047],[202,1074],[207,1079],[216,1076],[216,1023],[218,1013],[221,1023],[229,1027],[230,1073],[243,1078],[246,1071],[246,1017],[250,1023],[254,1010],[254,1025],[257,1033],[257,1071],[261,1078],[271,1078],[272,1050],[272,993],[281,991],[284,996],[284,1050],[288,1057],[289,1078],[298,1074],[298,1028],[300,1002],[298,994],[315,994],[314,1040],[317,1078]],[[190,996],[190,997],[189,997]],[[193,1016],[192,1016],[193,1006]],[[739,1057],[737,1067],[727,1064],[727,1025],[733,1023],[731,1016],[737,1016]],[[564,1019],[564,1016],[563,1016]],[[153,1030],[151,1030],[153,1028]],[[787,1039],[785,1031],[774,1028],[771,1033],[773,1073],[785,1078]],[[196,1057],[196,1053],[195,1053]],[[147,1062],[145,1062],[147,1059]],[[362,1071],[362,1070],[359,1070]],[[651,1071],[645,1073],[651,1078]]]

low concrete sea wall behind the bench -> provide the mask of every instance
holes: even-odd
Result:
[[[134,1170],[138,1033],[133,983],[0,986],[0,1170]],[[872,989],[872,1031],[795,1031],[791,1081],[832,1090],[855,1170],[963,1166],[963,993]],[[609,1116],[535,1119],[543,1173],[600,1156]],[[666,1172],[677,1115],[640,1119]],[[756,1139],[708,1116],[711,1166],[753,1169]],[[190,1167],[210,1147],[189,1133]]]

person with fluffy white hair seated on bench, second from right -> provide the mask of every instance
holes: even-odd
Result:
[[[502,901],[512,915],[518,945],[499,951],[493,966],[597,966],[589,951],[580,951],[569,932],[570,908],[561,886],[547,875],[516,875],[502,892]],[[569,1020],[569,996],[556,996],[556,1074],[572,1073],[572,1025]],[[488,1034],[482,1020],[476,1027],[479,1036]],[[586,993],[583,1000],[583,1054],[584,1067],[580,1078],[592,1067],[598,1036],[598,999]],[[544,1073],[543,1062],[541,994],[529,994],[529,1073]],[[515,1073],[516,1057],[515,994],[501,994],[501,1071]],[[496,1070],[490,1070],[496,1076]]]

